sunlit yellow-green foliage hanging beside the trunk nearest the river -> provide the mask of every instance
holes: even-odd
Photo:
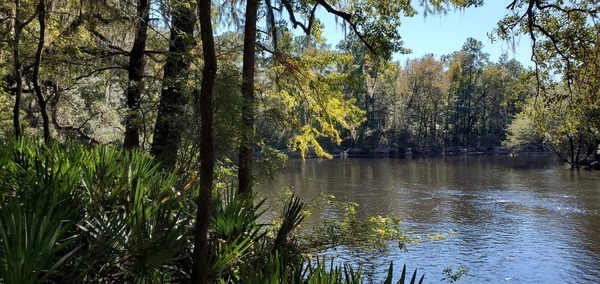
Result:
[[[336,67],[348,60],[348,55],[311,46],[298,57],[282,57],[269,72],[277,84],[264,90],[261,111],[278,113],[275,123],[286,130],[289,148],[303,157],[313,148],[318,157],[330,158],[320,139],[339,144],[341,131],[356,132],[365,120],[355,100],[344,95],[351,75]]]

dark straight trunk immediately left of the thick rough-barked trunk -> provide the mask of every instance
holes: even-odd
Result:
[[[129,86],[127,87],[127,118],[125,120],[126,149],[137,148],[140,145],[140,97],[142,79],[144,78],[144,50],[150,18],[150,0],[139,0],[136,14],[135,39],[129,54]]]

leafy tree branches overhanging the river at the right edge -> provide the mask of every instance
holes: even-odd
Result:
[[[596,103],[600,6],[595,1],[515,0],[508,8],[512,13],[500,22],[499,36],[524,33],[533,42],[537,95],[542,102],[533,113],[538,133],[559,156],[578,167],[594,153],[600,139]]]

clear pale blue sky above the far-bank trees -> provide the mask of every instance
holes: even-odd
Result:
[[[506,42],[494,43],[488,38],[488,33],[496,27],[500,20],[509,11],[506,10],[508,0],[487,0],[482,7],[465,10],[449,11],[446,15],[428,15],[422,13],[404,18],[400,27],[400,34],[404,46],[412,49],[412,54],[395,55],[395,60],[418,58],[427,53],[438,57],[460,50],[467,38],[472,37],[481,41],[483,51],[490,54],[490,60],[498,61],[502,53],[507,53],[509,58],[519,60],[525,66],[532,66],[531,41],[527,36],[515,38],[516,47],[513,48]],[[343,37],[341,28],[336,28],[333,16],[321,18],[327,27],[324,36],[335,46]]]

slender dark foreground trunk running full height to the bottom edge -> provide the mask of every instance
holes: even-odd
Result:
[[[213,151],[213,108],[212,93],[217,74],[217,57],[211,23],[211,1],[198,1],[200,38],[204,69],[200,96],[196,107],[200,109],[202,129],[200,132],[200,193],[196,199],[196,228],[194,231],[194,253],[192,256],[192,283],[204,284],[208,276],[208,227],[210,222],[210,199],[212,196],[214,151]]]

